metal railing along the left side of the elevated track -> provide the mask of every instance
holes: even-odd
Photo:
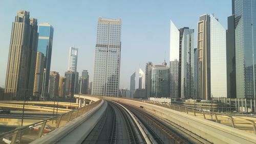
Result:
[[[97,106],[101,100],[94,102],[90,105],[83,106],[81,108],[72,110],[67,113],[63,113],[54,117],[50,117],[43,121],[16,128],[15,130],[3,133],[0,135],[0,143],[4,143],[4,140],[10,140],[11,143],[30,143],[47,133],[69,123],[76,117],[90,111],[95,106]]]

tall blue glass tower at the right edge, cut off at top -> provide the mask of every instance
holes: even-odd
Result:
[[[233,0],[237,98],[255,99],[256,1]]]

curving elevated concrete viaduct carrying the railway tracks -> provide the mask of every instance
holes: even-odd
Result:
[[[75,97],[91,99],[94,103],[18,128],[0,137],[12,136],[12,141],[19,139],[23,143],[256,142],[253,118],[221,115],[144,100],[92,95]],[[38,126],[41,129],[32,133],[31,129]],[[46,127],[52,128],[50,133],[46,132]]]

